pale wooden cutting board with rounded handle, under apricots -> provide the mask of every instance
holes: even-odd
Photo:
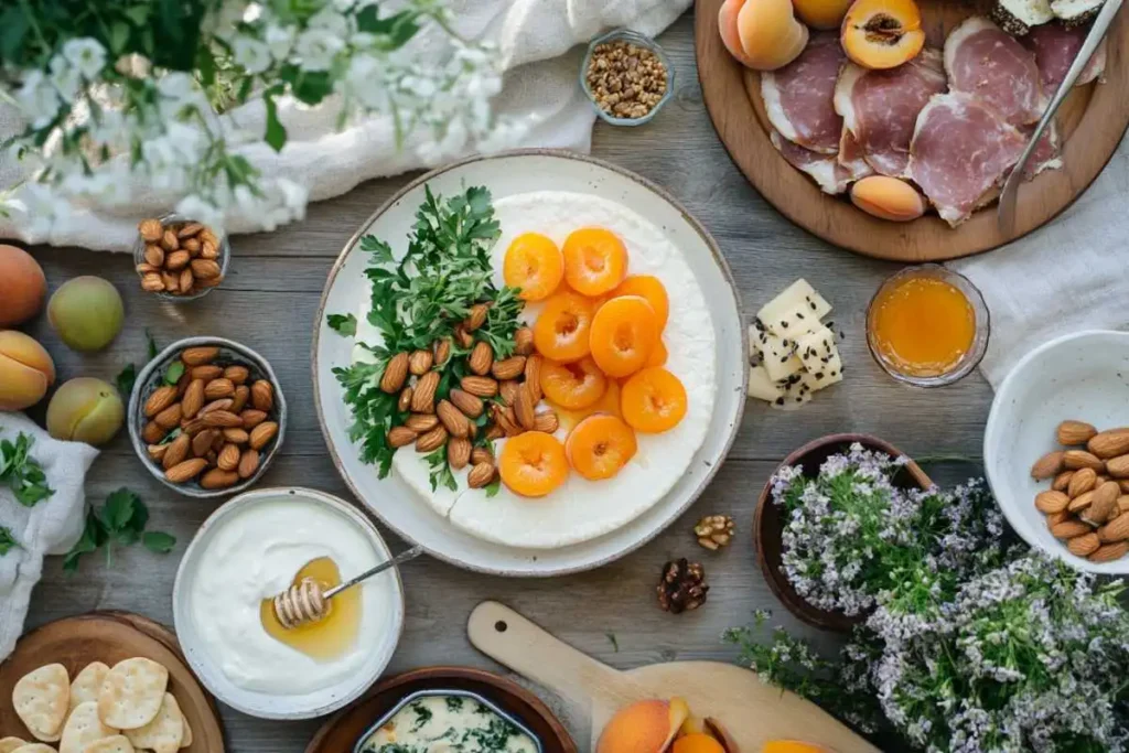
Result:
[[[835,753],[878,753],[809,701],[721,662],[669,662],[620,672],[581,654],[497,602],[483,602],[466,625],[480,651],[581,708],[592,710],[592,747],[612,715],[633,701],[681,695],[698,716],[718,719],[741,746],[759,753],[770,739],[796,739]]]

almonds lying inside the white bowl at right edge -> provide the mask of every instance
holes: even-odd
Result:
[[[1069,447],[1043,455],[1031,467],[1051,488],[1035,496],[1051,535],[1070,553],[1109,562],[1129,553],[1129,428],[1099,431],[1064,421],[1057,438]]]

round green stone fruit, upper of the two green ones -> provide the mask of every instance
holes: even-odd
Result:
[[[122,331],[125,309],[113,284],[84,275],[68,280],[47,304],[47,318],[75,350],[102,350]]]

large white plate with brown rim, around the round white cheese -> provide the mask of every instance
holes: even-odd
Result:
[[[376,470],[358,458],[349,441],[352,421],[341,401],[332,369],[351,360],[353,341],[325,323],[326,313],[353,313],[369,295],[364,275],[367,254],[359,238],[404,238],[423,200],[423,185],[450,195],[484,185],[495,199],[531,191],[575,191],[620,202],[667,235],[689,263],[710,304],[717,336],[717,397],[706,443],[679,483],[654,507],[604,536],[554,550],[523,550],[475,539],[457,529],[419,499],[395,475],[377,479]],[[706,489],[725,458],[741,424],[749,353],[741,303],[717,244],[674,199],[648,181],[588,157],[551,150],[514,151],[476,157],[429,173],[412,182],[365,222],[330,272],[314,325],[314,395],[318,421],[333,462],[359,500],[402,537],[432,557],[457,567],[505,576],[551,576],[599,567],[650,541],[674,522]]]

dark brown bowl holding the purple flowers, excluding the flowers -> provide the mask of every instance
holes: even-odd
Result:
[[[889,441],[870,437],[865,434],[833,434],[811,441],[791,455],[785,458],[777,469],[786,465],[803,465],[804,475],[815,478],[820,472],[820,466],[832,455],[847,450],[854,443],[859,443],[870,450],[886,453],[891,457],[903,455],[900,449]],[[773,472],[776,475],[776,472]],[[905,467],[894,476],[894,484],[903,489],[921,488],[928,489],[933,481],[925,474],[921,467],[910,461]],[[809,625],[837,632],[848,632],[856,623],[863,620],[861,616],[848,616],[842,612],[828,612],[819,610],[796,593],[781,566],[781,536],[785,526],[785,511],[772,502],[772,480],[764,484],[761,497],[756,501],[756,514],[753,517],[753,545],[756,548],[756,559],[764,572],[764,579],[777,598],[795,614]]]

